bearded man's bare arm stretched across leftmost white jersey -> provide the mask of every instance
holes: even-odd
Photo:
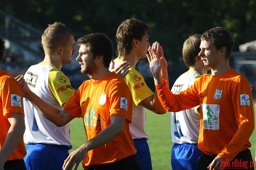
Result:
[[[34,94],[30,88],[28,88],[28,84],[25,82],[23,75],[19,75],[15,77],[15,79],[21,85],[24,97],[30,101],[30,103],[36,108],[36,110],[38,110],[38,112],[40,112],[40,114],[42,114],[42,116],[50,120],[56,126],[64,126],[75,118],[64,109],[59,110],[48,105],[40,97]]]

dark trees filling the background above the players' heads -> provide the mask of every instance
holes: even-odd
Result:
[[[149,41],[159,41],[172,61],[179,61],[189,35],[212,27],[230,30],[235,40],[233,51],[256,39],[256,0],[5,0],[0,8],[42,30],[59,21],[78,33],[106,33],[114,45],[120,22],[137,18],[149,25]]]

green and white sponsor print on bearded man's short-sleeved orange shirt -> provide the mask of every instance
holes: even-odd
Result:
[[[104,119],[92,108],[86,115],[84,120],[85,127],[97,127],[101,126]],[[95,129],[93,129],[95,130]],[[97,129],[96,129],[97,130]]]

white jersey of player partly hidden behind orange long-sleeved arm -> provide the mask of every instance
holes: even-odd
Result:
[[[171,92],[178,94],[189,88],[200,77],[197,71],[183,73],[175,81]],[[198,106],[199,107],[199,106]],[[197,143],[200,126],[198,108],[191,108],[180,112],[171,112],[171,137],[177,144]]]

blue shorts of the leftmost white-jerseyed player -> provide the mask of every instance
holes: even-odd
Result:
[[[27,170],[62,170],[68,148],[60,145],[31,144],[24,158]]]

